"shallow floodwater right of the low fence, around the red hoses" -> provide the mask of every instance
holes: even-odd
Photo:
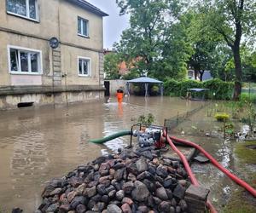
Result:
[[[172,131],[172,134],[201,145],[201,147],[210,153],[213,158],[216,158],[218,163],[223,165],[225,169],[230,170],[243,181],[247,181],[251,174],[256,171],[256,164],[242,164],[239,159],[236,158],[234,153],[236,143],[242,143],[243,141],[224,140],[218,132],[218,130],[223,128],[223,123],[212,121],[213,114],[207,116],[209,115],[209,108],[211,108],[211,105],[196,112],[189,117],[188,120],[179,124],[177,128]],[[241,126],[241,132],[243,129],[244,126]],[[183,131],[184,135],[180,135],[181,131]],[[206,134],[213,135],[213,137],[207,137]],[[224,205],[229,201],[231,194],[241,187],[236,185],[212,164],[194,163],[191,169],[201,185],[211,190],[209,198],[214,207],[219,212],[223,212]],[[255,204],[256,199],[253,199],[253,196],[249,193],[246,194]]]

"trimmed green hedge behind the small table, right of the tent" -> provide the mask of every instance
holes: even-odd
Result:
[[[230,100],[233,95],[234,83],[224,82],[220,79],[212,79],[206,82],[195,80],[176,81],[167,79],[164,83],[165,95],[186,96],[189,88],[209,89],[207,98],[217,100]]]

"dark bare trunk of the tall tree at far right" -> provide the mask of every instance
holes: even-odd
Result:
[[[238,101],[241,95],[241,57],[240,57],[240,46],[235,45],[233,50],[235,68],[236,68],[236,80],[235,80],[235,91],[234,91],[234,100]]]

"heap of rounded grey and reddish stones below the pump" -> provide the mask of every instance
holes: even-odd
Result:
[[[50,181],[35,213],[189,212],[187,177],[179,162],[154,147],[125,149]]]

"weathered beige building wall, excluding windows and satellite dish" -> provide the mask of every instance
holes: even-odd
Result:
[[[38,0],[38,4],[37,21],[7,13],[6,0],[0,0],[0,108],[11,107],[12,102],[16,105],[19,101],[48,104],[54,99],[45,94],[53,90],[50,89],[53,85],[57,87],[55,93],[63,92],[62,95],[55,95],[61,97],[57,102],[102,98],[102,15],[68,0]],[[78,35],[78,17],[88,20],[89,37]],[[54,51],[49,47],[51,37],[60,41],[59,48]],[[10,73],[9,45],[41,51],[43,72],[38,75]],[[79,76],[79,57],[90,59],[89,77]],[[28,94],[20,92],[24,86]],[[40,86],[44,95],[38,96]],[[38,93],[34,92],[35,87]],[[15,91],[13,97],[11,91]],[[31,91],[33,94],[29,95]],[[6,94],[9,96],[3,97]]]

